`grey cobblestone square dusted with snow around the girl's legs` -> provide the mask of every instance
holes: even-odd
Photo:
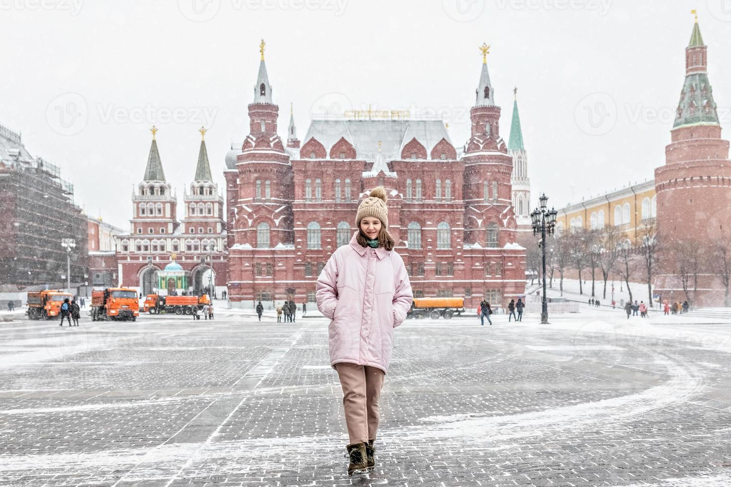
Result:
[[[731,323],[525,319],[396,329],[354,478],[322,318],[1,323],[0,486],[731,485]]]

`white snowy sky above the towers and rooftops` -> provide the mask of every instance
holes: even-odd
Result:
[[[201,125],[224,185],[262,37],[281,136],[290,102],[300,138],[311,112],[371,104],[442,113],[458,146],[487,42],[501,134],[518,86],[534,200],[564,206],[664,164],[693,8],[728,129],[730,0],[0,0],[0,124],[61,166],[89,215],[126,229],[153,124],[179,200]]]

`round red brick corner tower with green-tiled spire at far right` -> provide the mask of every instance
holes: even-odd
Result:
[[[700,251],[701,261],[708,261],[698,276],[697,293],[691,293],[693,304],[721,306],[725,286],[710,271],[719,265],[713,262],[714,245],[731,240],[731,161],[708,81],[707,51],[696,20],[665,165],[655,170],[660,244],[670,251],[655,292],[662,299],[686,299],[678,269],[681,257],[675,250],[676,242],[685,241],[690,251]]]

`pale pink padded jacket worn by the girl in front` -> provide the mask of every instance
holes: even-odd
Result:
[[[348,362],[388,372],[393,329],[406,319],[414,297],[411,283],[398,253],[361,247],[356,235],[317,277],[317,309],[331,320],[330,365]]]

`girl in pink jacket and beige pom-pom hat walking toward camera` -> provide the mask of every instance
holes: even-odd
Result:
[[[317,278],[317,309],[332,320],[330,365],[343,388],[348,475],[376,467],[379,398],[393,329],[406,319],[413,299],[404,260],[388,234],[386,199],[378,187],[360,203],[350,244],[330,256]]]

